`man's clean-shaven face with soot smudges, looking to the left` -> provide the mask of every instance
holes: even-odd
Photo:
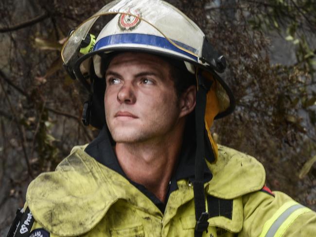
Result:
[[[111,60],[105,80],[106,123],[116,142],[164,139],[173,132],[180,109],[169,63],[122,53]]]

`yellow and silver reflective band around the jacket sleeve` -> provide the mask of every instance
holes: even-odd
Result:
[[[276,213],[265,222],[260,237],[281,237],[299,215],[311,209],[294,201],[284,203]]]

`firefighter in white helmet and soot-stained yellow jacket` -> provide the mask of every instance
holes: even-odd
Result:
[[[97,37],[95,24],[104,24]],[[271,192],[253,157],[217,145],[234,97],[198,26],[162,0],[116,0],[71,32],[65,68],[101,129],[28,187],[9,237],[316,235],[316,213]]]

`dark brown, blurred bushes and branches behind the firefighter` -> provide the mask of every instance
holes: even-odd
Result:
[[[168,1],[227,57],[236,111],[215,122],[215,139],[255,156],[272,190],[316,210],[316,2]],[[107,2],[0,1],[0,236],[29,182],[97,135],[81,123],[87,93],[62,69],[60,50]]]

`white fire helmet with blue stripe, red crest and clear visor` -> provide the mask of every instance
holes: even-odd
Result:
[[[99,21],[105,26],[95,39],[89,31],[94,30],[94,25],[100,25]],[[190,18],[163,0],[108,3],[72,31],[61,54],[70,75],[90,88],[87,79],[92,76],[91,65],[94,76],[102,78],[106,69],[102,58],[115,51],[158,54],[183,61],[191,73],[204,71],[214,82],[218,108],[213,119],[222,118],[234,109],[234,97],[216,73],[226,68],[225,57],[212,48]]]

